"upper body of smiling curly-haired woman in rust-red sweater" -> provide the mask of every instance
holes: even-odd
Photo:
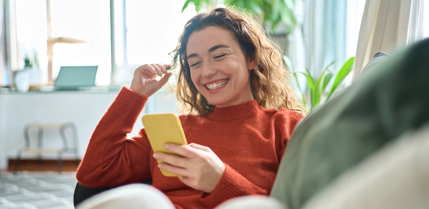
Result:
[[[153,153],[144,128],[126,138],[148,97],[172,75],[169,66],[144,65],[100,120],[76,178],[92,188],[152,178],[152,186],[178,209],[268,195],[303,117],[302,105],[284,84],[279,47],[251,17],[217,8],[191,18],[173,52],[171,68],[180,63],[178,100],[182,110],[195,114],[179,116],[190,145],[166,149],[185,158]],[[158,165],[157,159],[166,163]],[[163,176],[158,167],[181,177]]]

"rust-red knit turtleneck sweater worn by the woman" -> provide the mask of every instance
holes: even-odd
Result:
[[[268,195],[290,134],[303,116],[266,110],[256,100],[216,108],[207,117],[180,115],[188,143],[210,147],[226,165],[210,194],[177,177],[163,176],[145,134],[127,139],[147,97],[123,87],[98,123],[76,178],[90,188],[124,185],[152,178],[178,209],[214,208],[233,197]]]

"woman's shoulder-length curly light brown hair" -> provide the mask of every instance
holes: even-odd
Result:
[[[290,76],[282,59],[281,47],[273,42],[253,16],[235,8],[215,8],[191,18],[184,26],[177,47],[172,51],[171,69],[180,63],[177,82],[177,99],[182,102],[181,112],[206,115],[213,111],[211,105],[198,92],[190,76],[186,45],[193,31],[208,26],[219,26],[229,30],[239,42],[248,58],[254,58],[255,68],[251,71],[251,90],[254,99],[264,108],[287,108],[306,113],[295,90],[287,85]]]

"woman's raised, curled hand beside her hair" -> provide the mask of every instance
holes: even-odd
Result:
[[[167,83],[168,78],[172,75],[172,72],[167,72],[169,67],[170,65],[160,64],[146,64],[138,67],[134,72],[134,78],[133,81],[131,81],[130,90],[139,93],[142,96],[152,96],[157,92],[157,90]],[[155,80],[157,75],[162,76],[162,74],[165,74],[163,78],[159,81]]]

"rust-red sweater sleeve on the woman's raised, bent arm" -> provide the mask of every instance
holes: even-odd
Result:
[[[100,188],[151,177],[151,146],[144,129],[127,139],[147,100],[126,87],[121,89],[91,136],[76,173],[79,183]]]

